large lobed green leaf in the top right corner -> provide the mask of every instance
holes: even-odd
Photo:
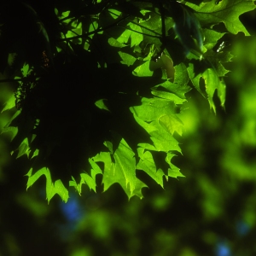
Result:
[[[224,22],[230,33],[237,34],[238,32],[244,32],[246,36],[249,36],[250,34],[247,32],[247,29],[239,20],[239,16],[255,9],[253,2],[253,0],[232,0],[221,1],[218,4],[215,4],[215,1],[210,1],[201,3],[200,6],[193,3],[186,4],[192,9],[195,9],[201,26],[212,26]]]

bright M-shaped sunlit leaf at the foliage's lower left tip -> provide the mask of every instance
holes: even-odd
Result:
[[[50,172],[47,167],[43,167],[42,169],[38,170],[34,174],[32,174],[32,168],[31,168],[30,171],[26,173],[26,176],[28,176],[26,189],[30,188],[32,184],[35,183],[38,180],[38,178],[41,177],[42,175],[46,177],[46,199],[48,200],[48,203],[55,194],[60,195],[62,201],[67,202],[68,200],[67,189],[64,187],[60,179],[56,180],[55,183],[52,183]]]

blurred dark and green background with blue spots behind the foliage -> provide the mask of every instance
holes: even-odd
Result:
[[[161,189],[138,172],[150,188],[143,200],[128,201],[115,184],[98,194],[84,186],[67,204],[55,195],[48,205],[44,178],[26,191],[26,160],[13,160],[9,138],[0,137],[0,256],[256,255],[255,14],[241,17],[253,37],[229,42],[236,57],[225,66],[225,109],[215,115],[189,92],[183,155],[174,160],[186,177]],[[3,105],[11,92],[3,83],[0,90]]]

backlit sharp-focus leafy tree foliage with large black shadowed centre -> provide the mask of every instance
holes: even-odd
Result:
[[[3,112],[11,154],[26,156],[26,188],[119,183],[143,197],[145,172],[161,187],[183,177],[181,115],[193,88],[224,108],[230,38],[254,1],[10,1],[0,15]]]

